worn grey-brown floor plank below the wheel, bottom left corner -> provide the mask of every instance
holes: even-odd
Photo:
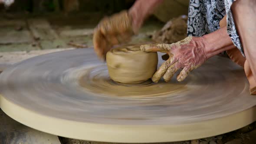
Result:
[[[61,144],[56,135],[29,128],[0,109],[0,144]]]

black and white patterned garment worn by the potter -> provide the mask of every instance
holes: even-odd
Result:
[[[203,36],[220,29],[220,20],[226,15],[227,33],[244,56],[243,47],[236,32],[231,5],[235,0],[190,0],[187,35]]]

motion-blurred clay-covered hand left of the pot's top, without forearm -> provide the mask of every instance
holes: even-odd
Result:
[[[112,46],[127,42],[133,34],[132,18],[128,11],[103,18],[95,28],[93,36],[96,54],[105,60],[106,53]]]

